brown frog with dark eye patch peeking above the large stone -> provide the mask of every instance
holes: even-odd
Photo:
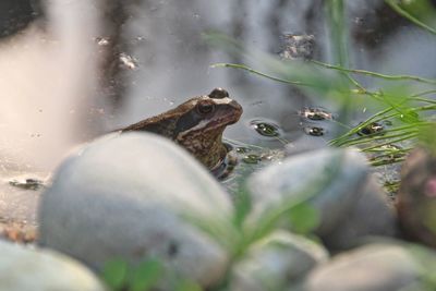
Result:
[[[214,171],[220,168],[229,151],[222,143],[222,132],[241,114],[242,107],[229,97],[229,93],[215,88],[209,95],[189,99],[174,109],[121,129],[121,132],[147,131],[166,136]]]

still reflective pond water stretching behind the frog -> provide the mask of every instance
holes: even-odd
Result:
[[[74,145],[215,87],[226,88],[244,108],[241,121],[225,135],[240,148],[247,172],[263,160],[274,160],[274,150],[299,153],[332,137],[337,105],[243,71],[211,68],[250,61],[209,46],[202,36],[219,31],[247,48],[280,58],[287,36],[306,35],[313,38],[305,44],[310,53],[303,58],[330,62],[325,1],[85,2],[0,3],[0,69],[10,72],[0,80],[0,89],[10,96],[0,99],[3,204],[15,199],[10,205],[25,207],[24,197],[37,193],[11,187],[8,181],[13,177],[47,177]],[[384,1],[348,1],[347,20],[353,68],[436,77],[435,37]],[[16,63],[12,65],[11,60]],[[380,85],[366,77],[358,80],[368,88]],[[52,84],[60,85],[53,89]],[[355,100],[351,125],[375,110],[364,98]],[[265,156],[256,149],[243,153],[249,146],[272,151]],[[36,202],[29,201],[33,209]]]

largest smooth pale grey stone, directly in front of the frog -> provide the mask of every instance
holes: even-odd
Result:
[[[228,265],[231,217],[227,193],[187,151],[155,134],[116,134],[57,170],[40,203],[39,243],[97,268],[158,258],[168,278],[209,286]]]

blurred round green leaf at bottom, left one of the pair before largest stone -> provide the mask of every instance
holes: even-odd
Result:
[[[125,286],[129,265],[124,259],[107,262],[101,271],[101,278],[108,287],[118,290]]]

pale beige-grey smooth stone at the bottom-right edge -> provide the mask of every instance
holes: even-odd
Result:
[[[421,252],[423,250],[420,250]],[[400,291],[423,289],[424,267],[413,248],[396,243],[375,243],[334,257],[316,268],[304,291]],[[426,251],[435,258],[435,253]],[[433,263],[434,267],[435,263]],[[427,275],[434,275],[428,269]]]

